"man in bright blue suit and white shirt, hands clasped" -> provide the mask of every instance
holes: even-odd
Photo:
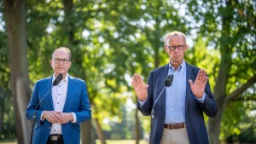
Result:
[[[67,73],[70,59],[69,49],[55,49],[50,60],[53,76],[35,84],[26,109],[28,119],[33,119],[35,113],[33,144],[80,143],[80,124],[91,117],[90,103],[85,82]],[[61,82],[52,87],[60,73]]]

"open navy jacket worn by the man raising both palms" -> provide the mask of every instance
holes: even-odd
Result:
[[[189,135],[189,142],[190,144],[207,144],[209,142],[203,112],[213,117],[216,115],[218,108],[208,82],[205,89],[207,94],[206,101],[201,103],[196,100],[195,95],[193,95],[190,89],[189,79],[195,82],[200,69],[188,63],[186,63],[186,67],[186,89],[184,89],[186,90],[185,123]],[[167,64],[150,72],[148,78],[148,99],[143,104],[143,107],[138,107],[143,115],[151,115],[154,101],[160,95],[160,91],[165,87],[164,82],[168,74],[168,68],[169,65]],[[160,96],[160,99],[154,106],[154,118],[151,118],[150,144],[160,144],[163,135],[166,117],[166,90]]]

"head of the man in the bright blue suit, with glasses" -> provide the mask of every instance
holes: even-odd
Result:
[[[60,73],[66,77],[67,72],[71,66],[71,61],[69,61],[69,55],[64,50],[57,50],[55,51],[54,57],[50,60],[50,65],[52,66],[55,77],[58,76]]]

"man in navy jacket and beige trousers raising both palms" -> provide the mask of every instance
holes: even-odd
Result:
[[[203,112],[214,117],[218,111],[207,72],[183,59],[188,45],[182,32],[168,33],[164,48],[170,62],[150,72],[148,84],[137,73],[131,81],[138,109],[143,115],[153,115],[149,143],[207,144]],[[171,87],[165,88],[168,75],[173,75],[173,81]]]

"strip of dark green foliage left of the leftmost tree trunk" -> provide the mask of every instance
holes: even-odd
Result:
[[[3,22],[3,5],[0,3],[0,140],[13,139],[15,133],[15,114],[10,91],[10,72],[7,35]]]

